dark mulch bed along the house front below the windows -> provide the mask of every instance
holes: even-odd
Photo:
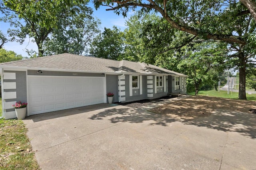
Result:
[[[150,99],[144,99],[144,100],[131,101],[131,102],[126,102],[126,103],[116,102],[114,104],[122,105],[122,106],[126,106],[126,107],[138,108],[138,107],[151,105],[153,103],[157,103],[157,102],[160,102],[160,101],[165,101],[167,99],[172,99],[172,98],[174,98],[174,97],[165,96],[165,97],[160,97],[160,98],[151,99],[151,100]]]

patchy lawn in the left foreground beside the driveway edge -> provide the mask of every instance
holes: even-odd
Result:
[[[2,115],[2,102],[0,102],[0,109]],[[0,169],[40,169],[26,134],[27,131],[21,120],[0,119]]]

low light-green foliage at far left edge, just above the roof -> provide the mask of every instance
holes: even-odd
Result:
[[[7,51],[3,48],[0,49],[0,63],[21,60],[22,58],[22,55],[18,55],[14,51]]]

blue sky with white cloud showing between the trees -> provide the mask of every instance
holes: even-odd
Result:
[[[105,6],[100,6],[100,8],[96,10],[91,2],[88,5],[94,10],[94,17],[101,20],[102,30],[104,29],[104,27],[112,28],[113,26],[117,26],[117,28],[120,28],[120,30],[123,31],[126,28],[125,21],[128,20],[128,18],[130,18],[130,16],[133,14],[132,11],[128,12],[127,18],[124,18],[124,16],[122,15],[118,16],[117,14],[115,14],[114,11],[106,11]],[[0,17],[2,17],[2,14],[0,14]],[[10,28],[9,23],[0,22],[0,30],[2,30],[2,32],[6,36],[8,36],[8,28]],[[36,43],[31,42],[31,40],[32,38],[27,37],[22,45],[17,42],[8,42],[4,44],[4,49],[12,50],[17,54],[21,54],[23,57],[26,57],[28,56],[25,50],[26,48],[28,50],[33,49],[34,51],[38,50]]]

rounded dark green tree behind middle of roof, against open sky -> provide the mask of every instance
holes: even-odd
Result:
[[[90,47],[90,53],[94,57],[122,60],[124,57],[124,33],[116,26],[113,26],[113,30],[104,28],[104,32],[94,38]]]

